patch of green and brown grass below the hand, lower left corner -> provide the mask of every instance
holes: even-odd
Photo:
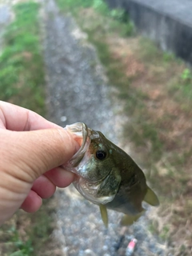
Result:
[[[18,211],[0,228],[2,256],[31,256],[45,253],[53,231],[51,214],[54,209],[44,202],[35,214]]]

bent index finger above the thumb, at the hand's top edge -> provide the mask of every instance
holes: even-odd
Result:
[[[7,130],[40,130],[61,128],[34,111],[0,101],[0,128]]]

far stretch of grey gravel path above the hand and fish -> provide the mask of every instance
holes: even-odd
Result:
[[[113,112],[107,98],[101,66],[96,52],[70,16],[58,14],[49,2],[52,18],[46,23],[46,66],[49,112],[62,126],[86,122],[96,129],[113,130]],[[55,17],[54,17],[55,15]],[[107,121],[106,121],[107,119]]]

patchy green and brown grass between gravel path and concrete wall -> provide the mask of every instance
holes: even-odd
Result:
[[[150,214],[150,230],[174,244],[172,254],[190,255],[190,68],[174,54],[163,53],[150,40],[137,35],[122,10],[109,10],[101,0],[57,2],[63,11],[74,15],[96,46],[109,84],[116,87],[114,94],[122,102],[119,114],[125,120],[129,117],[123,141],[147,170],[147,180],[161,201]]]

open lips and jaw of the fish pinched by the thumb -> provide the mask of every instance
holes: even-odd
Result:
[[[78,152],[76,152],[68,162],[68,165],[70,165],[69,166],[70,168],[76,167],[82,161],[82,158],[86,154],[86,150],[88,150],[90,146],[90,142],[91,142],[90,129],[83,122],[76,122],[72,125],[66,126],[64,129],[66,129],[68,132],[73,134],[74,140],[76,140],[80,145]],[[67,166],[65,166],[65,168]],[[73,170],[70,169],[70,171],[73,171]]]

